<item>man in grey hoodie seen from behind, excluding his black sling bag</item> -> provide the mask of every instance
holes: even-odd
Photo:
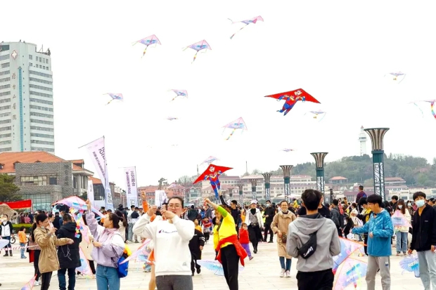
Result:
[[[298,258],[298,290],[333,289],[333,256],[340,253],[340,241],[335,223],[318,213],[321,197],[318,190],[305,190],[301,198],[307,215],[298,217],[288,227],[286,251]],[[298,250],[312,234],[316,235],[316,250],[309,258],[302,258]]]

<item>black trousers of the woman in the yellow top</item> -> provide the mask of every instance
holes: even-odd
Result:
[[[238,290],[239,256],[233,244],[221,248],[221,261],[229,290]]]

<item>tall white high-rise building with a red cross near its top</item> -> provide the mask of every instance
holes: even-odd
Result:
[[[0,43],[0,152],[54,152],[51,53]]]

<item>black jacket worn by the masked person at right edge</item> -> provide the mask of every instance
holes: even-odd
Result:
[[[428,251],[432,245],[436,246],[436,209],[425,204],[421,216],[416,211],[413,216],[412,231],[410,249]]]

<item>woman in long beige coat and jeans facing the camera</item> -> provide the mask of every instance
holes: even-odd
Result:
[[[297,218],[288,207],[289,204],[286,200],[280,202],[281,211],[276,213],[271,223],[271,229],[274,234],[277,234],[277,253],[281,265],[280,277],[286,275],[287,278],[290,277],[290,263],[292,257],[286,252],[286,237],[288,235],[289,224]]]

